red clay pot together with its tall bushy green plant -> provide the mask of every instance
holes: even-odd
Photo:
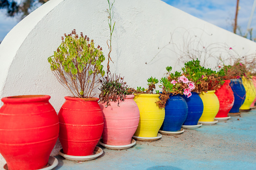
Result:
[[[72,156],[93,155],[104,126],[99,98],[94,97],[93,91],[105,74],[105,57],[94,40],[90,42],[82,33],[79,37],[75,30],[61,39],[48,62],[57,80],[73,95],[65,97],[58,114],[62,152]]]

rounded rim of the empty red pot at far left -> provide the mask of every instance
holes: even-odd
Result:
[[[49,100],[49,95],[20,95],[20,96],[9,96],[2,98],[4,103],[25,103],[25,102],[37,102]]]

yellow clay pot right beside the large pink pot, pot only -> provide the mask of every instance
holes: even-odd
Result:
[[[139,137],[156,137],[164,119],[164,109],[159,109],[156,101],[159,94],[135,95],[134,101],[140,111],[139,125],[134,133]]]

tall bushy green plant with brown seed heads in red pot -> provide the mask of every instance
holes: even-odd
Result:
[[[64,38],[65,37],[65,38]],[[99,85],[99,79],[104,76],[102,62],[105,57],[102,48],[95,48],[94,40],[73,30],[64,34],[62,43],[48,58],[50,68],[57,80],[71,91],[73,96],[80,98],[93,97],[93,90]]]

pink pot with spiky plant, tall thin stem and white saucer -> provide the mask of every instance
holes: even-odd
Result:
[[[104,117],[104,129],[100,144],[109,149],[126,149],[136,144],[132,136],[139,124],[139,108],[133,100],[133,91],[124,81],[124,77],[110,72],[111,43],[115,23],[112,27],[112,7],[114,3],[110,4],[109,0],[108,3],[110,40],[107,42],[110,44],[108,44],[107,75],[101,81],[101,93],[99,95],[100,107]]]

